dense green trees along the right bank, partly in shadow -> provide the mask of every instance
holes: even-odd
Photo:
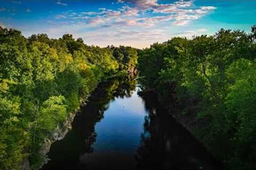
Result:
[[[139,51],[140,82],[171,113],[204,120],[195,134],[228,169],[255,169],[255,59],[256,26],[172,38]]]

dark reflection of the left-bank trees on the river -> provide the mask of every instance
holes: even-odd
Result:
[[[43,169],[85,169],[91,168],[91,166],[95,168],[95,165],[102,165],[110,159],[124,162],[125,164],[123,163],[122,166],[130,165],[133,162],[133,156],[106,152],[95,154],[94,148],[100,148],[101,145],[94,146],[93,144],[100,140],[97,137],[99,131],[95,130],[95,124],[104,118],[110,103],[114,103],[115,99],[130,98],[136,84],[137,81],[130,78],[102,83],[89,98],[90,102],[82,107],[81,112],[75,117],[72,124],[73,129],[63,140],[53,143],[48,154],[51,161]],[[102,147],[107,148],[108,146]]]

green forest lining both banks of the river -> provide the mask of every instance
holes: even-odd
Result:
[[[26,158],[38,169],[44,140],[98,84],[136,70],[142,93],[155,91],[170,114],[188,120],[224,167],[256,168],[256,25],[145,49],[1,27],[0,58],[0,169],[20,169]]]

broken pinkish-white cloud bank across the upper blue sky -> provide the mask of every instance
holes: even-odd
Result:
[[[106,27],[107,23],[108,27],[111,27],[111,25],[152,27],[158,22],[172,22],[172,25],[186,25],[215,10],[214,6],[196,7],[193,0],[180,0],[169,4],[159,4],[157,0],[119,1],[119,3],[121,2],[124,2],[124,5],[118,10],[99,8],[99,11],[81,12],[77,15],[67,13],[65,16],[69,19],[79,20],[78,22],[83,20],[82,22],[87,22],[93,26],[105,24],[104,26]],[[144,16],[146,11],[153,12],[156,16],[147,18]],[[57,16],[57,18],[64,17]]]

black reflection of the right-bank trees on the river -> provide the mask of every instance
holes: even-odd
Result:
[[[143,169],[220,169],[220,164],[193,135],[167,114],[149,93],[143,97],[145,116],[137,168]]]

